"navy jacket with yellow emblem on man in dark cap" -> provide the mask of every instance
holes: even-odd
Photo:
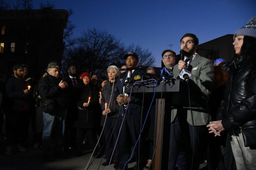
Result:
[[[116,82],[116,89],[115,89],[115,99],[118,95],[124,94],[123,91],[123,84],[125,83],[125,79],[127,78],[127,74],[129,71],[123,72],[118,78]],[[142,70],[134,70],[131,74],[131,81],[134,83],[136,81],[142,80],[142,75],[140,73],[144,73]],[[132,83],[132,84],[133,84]],[[133,92],[136,91],[136,87],[133,87]],[[130,96],[131,90],[127,90],[125,87],[125,93]],[[136,98],[136,94],[131,96],[131,102],[129,102],[127,113],[126,114],[141,114],[142,109],[142,100]],[[121,107],[120,114],[123,115],[124,107]]]

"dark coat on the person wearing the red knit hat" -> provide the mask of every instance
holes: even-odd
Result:
[[[89,97],[89,106],[83,107],[83,103],[87,103]],[[97,88],[91,85],[85,85],[82,81],[78,82],[76,86],[76,100],[77,107],[83,108],[84,110],[78,111],[78,118],[74,123],[74,127],[82,129],[98,128],[101,115],[96,111],[99,105]]]

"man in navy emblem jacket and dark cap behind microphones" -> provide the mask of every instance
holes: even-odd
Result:
[[[136,67],[139,59],[135,52],[129,52],[124,56],[124,59],[126,59],[126,65],[128,68]],[[139,138],[140,135],[140,119],[141,119],[141,109],[142,109],[142,102],[141,100],[137,99],[135,96],[131,96],[129,98],[129,91],[127,91],[127,88],[123,86],[125,82],[132,81],[139,81],[141,79],[141,73],[140,70],[132,70],[132,71],[126,71],[122,73],[117,78],[117,84],[115,89],[115,96],[117,99],[117,102],[119,105],[123,105],[121,107],[120,116],[123,121],[123,125],[121,127],[121,132],[119,136],[119,164],[118,169],[124,169],[125,163],[129,159],[129,139],[131,139],[132,146],[135,146],[136,141]],[[129,104],[128,104],[129,102]],[[127,111],[125,112],[127,108]],[[122,120],[120,119],[120,120]],[[122,122],[120,122],[121,124]],[[140,141],[142,143],[142,141]],[[140,150],[142,149],[142,146],[140,146]],[[142,152],[140,152],[140,158],[138,157],[138,144],[136,146],[135,150],[135,158],[137,164],[135,165],[135,169],[143,169],[143,160],[142,160]],[[140,160],[140,161],[139,161]],[[138,161],[140,164],[140,167],[138,166]],[[138,168],[139,167],[139,168]],[[125,167],[126,169],[127,167]]]

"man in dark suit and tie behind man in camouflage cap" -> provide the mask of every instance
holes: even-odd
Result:
[[[68,75],[64,78],[68,83],[68,91],[70,96],[70,104],[67,108],[67,122],[66,122],[66,134],[64,151],[67,152],[69,147],[76,148],[76,128],[73,127],[77,116],[76,107],[76,85],[78,84],[78,78],[76,78],[76,66],[74,64],[69,65]]]

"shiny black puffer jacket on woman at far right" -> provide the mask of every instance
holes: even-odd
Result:
[[[222,119],[222,126],[230,134],[237,134],[241,126],[256,126],[256,80],[246,86],[245,77],[250,68],[243,56],[229,61],[224,67],[229,71],[229,78],[217,119]]]

